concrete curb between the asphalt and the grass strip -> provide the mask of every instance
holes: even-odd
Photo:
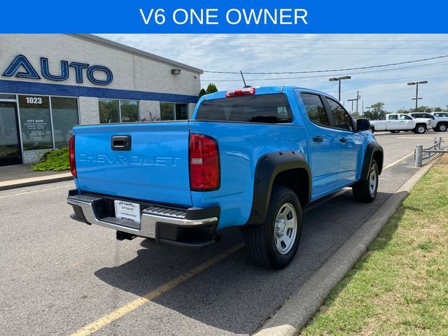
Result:
[[[254,335],[297,335],[321,307],[330,290],[344,279],[344,276],[353,268],[360,256],[365,253],[370,243],[378,236],[381,228],[395,214],[402,200],[431,167],[433,167],[433,163],[422,167],[403,184],[386,201],[386,204],[378,209],[372,218],[364,223]]]

